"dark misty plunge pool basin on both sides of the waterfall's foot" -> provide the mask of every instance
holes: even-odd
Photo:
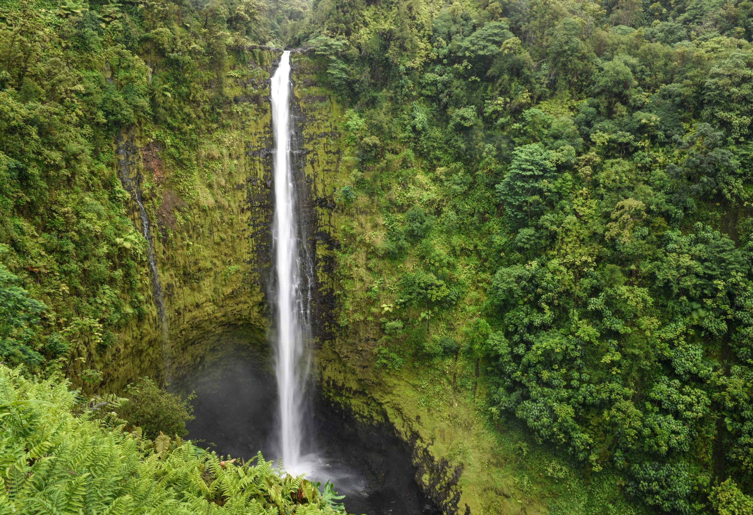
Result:
[[[206,353],[176,381],[178,391],[195,391],[196,418],[188,437],[197,445],[233,458],[278,458],[278,397],[272,350],[252,330],[233,330],[208,339]],[[334,482],[348,513],[416,515],[433,513],[416,483],[410,451],[386,427],[368,426],[312,394],[311,434],[318,471],[310,480]]]

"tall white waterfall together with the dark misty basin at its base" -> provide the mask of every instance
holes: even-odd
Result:
[[[181,391],[197,392],[189,435],[224,455],[248,459],[262,450],[268,459],[279,458],[289,474],[331,480],[354,512],[437,513],[416,484],[410,452],[389,427],[358,422],[310,385],[316,278],[306,228],[298,221],[312,217],[298,206],[305,199],[297,193],[300,175],[293,173],[300,164],[294,163],[291,140],[300,130],[290,123],[290,73],[290,51],[284,51],[270,79],[274,259],[268,289],[275,322],[264,341],[243,330],[212,337],[200,372],[187,372],[181,380]],[[270,418],[270,412],[277,415]]]

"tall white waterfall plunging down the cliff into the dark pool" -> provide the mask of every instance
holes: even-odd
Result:
[[[309,337],[306,263],[300,258],[300,226],[296,220],[295,187],[291,174],[290,52],[285,51],[272,78],[272,124],[275,139],[276,361],[279,391],[279,451],[291,474],[310,468],[303,455],[304,390]],[[308,470],[310,472],[310,470]]]

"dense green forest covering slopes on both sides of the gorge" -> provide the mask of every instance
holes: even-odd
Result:
[[[346,108],[334,317],[377,373],[447,371],[656,513],[753,513],[751,38],[746,0],[5,0],[2,359],[101,379],[151,302],[114,141],[200,198],[291,44]]]

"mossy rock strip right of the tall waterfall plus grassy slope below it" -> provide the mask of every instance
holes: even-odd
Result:
[[[383,239],[383,225],[367,197],[354,204],[338,198],[340,189],[360,179],[362,167],[349,157],[349,118],[332,94],[316,85],[317,71],[307,57],[294,54],[305,176],[309,194],[319,201],[316,228],[332,238],[319,238],[319,281],[338,301],[337,318],[330,320],[330,332],[320,337],[316,351],[322,393],[363,422],[394,427],[413,448],[428,497],[446,513],[463,513],[466,504],[471,513],[596,514],[608,505],[612,513],[642,513],[625,504],[618,477],[583,477],[516,425],[491,425],[483,392],[475,399],[472,394],[474,362],[465,357],[452,366],[403,360],[399,371],[375,367],[381,335],[373,320],[383,308],[372,308],[370,292],[374,284],[381,290],[390,284],[378,282],[373,261],[380,256],[375,247]]]

